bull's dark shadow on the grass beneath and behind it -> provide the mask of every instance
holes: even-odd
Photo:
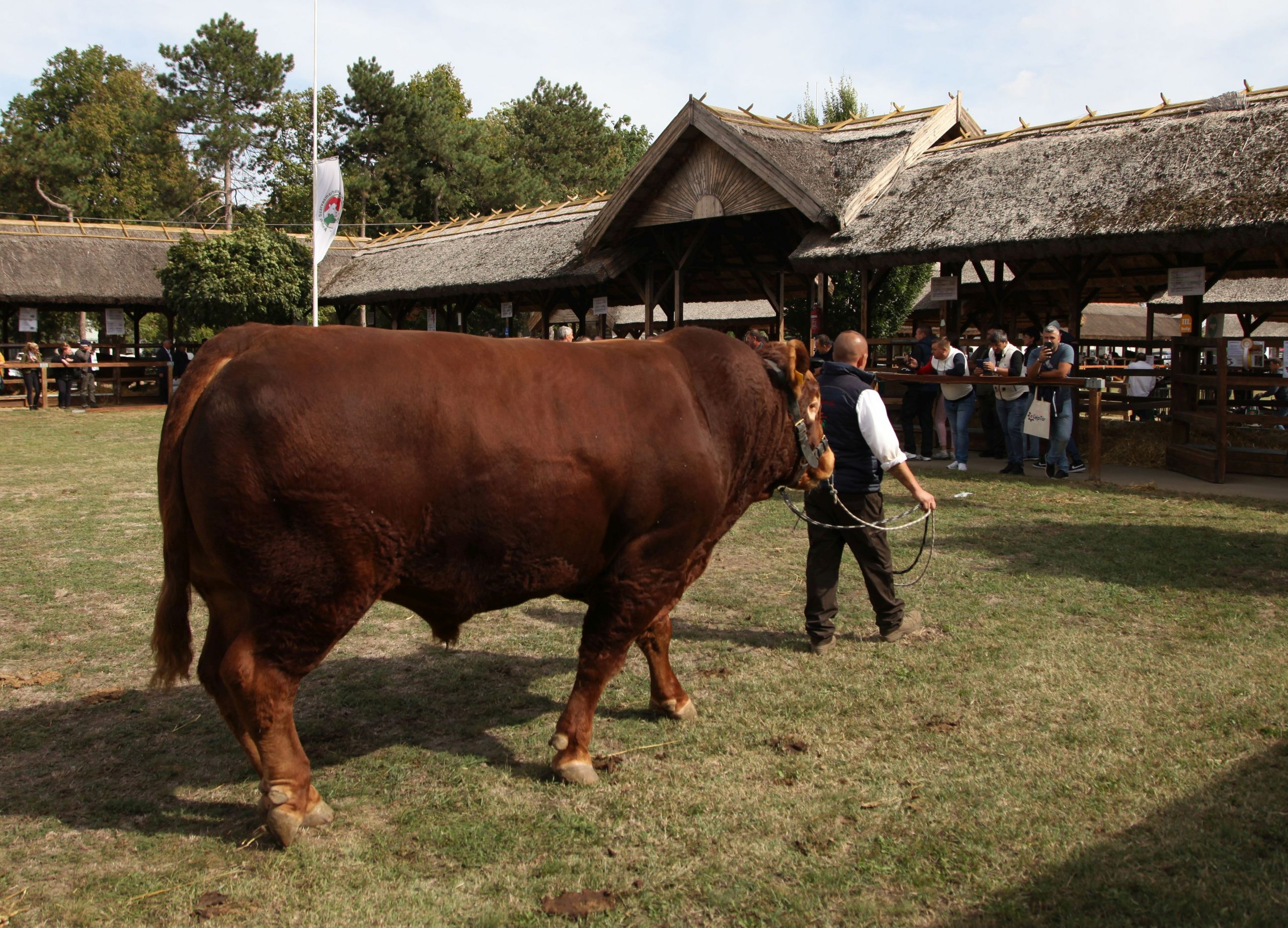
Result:
[[[314,771],[404,744],[544,777],[545,763],[520,763],[489,730],[563,710],[531,686],[572,668],[571,658],[442,649],[327,662],[300,689],[296,727]],[[249,799],[176,793],[252,781],[246,756],[200,686],[0,712],[0,815],[240,839],[258,821]]]

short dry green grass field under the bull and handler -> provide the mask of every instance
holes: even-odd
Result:
[[[634,654],[592,750],[672,743],[592,788],[546,768],[578,604],[479,615],[451,651],[383,604],[301,689],[337,817],[283,852],[209,698],[146,687],[160,423],[0,412],[0,925],[550,924],[580,889],[614,893],[592,924],[1288,911],[1284,507],[936,478],[908,591],[931,627],[872,641],[848,564],[819,659],[805,533],[761,503],[676,611],[698,721],[648,714]]]

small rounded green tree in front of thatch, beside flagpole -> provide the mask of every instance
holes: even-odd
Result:
[[[157,270],[180,328],[222,329],[243,322],[303,319],[312,293],[309,248],[269,229],[259,214],[236,232],[207,241],[184,236]]]

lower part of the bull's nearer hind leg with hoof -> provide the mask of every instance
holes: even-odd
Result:
[[[219,668],[259,752],[259,804],[264,824],[283,847],[295,840],[301,828],[326,825],[335,817],[313,788],[309,758],[295,731],[295,694],[300,680],[331,644],[318,649],[316,660],[307,660],[303,671],[289,669],[260,653],[252,632],[243,632],[228,646]]]

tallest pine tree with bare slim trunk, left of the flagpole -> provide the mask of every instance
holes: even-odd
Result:
[[[224,225],[233,227],[233,170],[260,144],[265,108],[282,93],[291,55],[259,50],[259,33],[224,13],[197,28],[182,49],[161,45],[170,71],[160,76],[175,118],[197,136],[197,154],[222,172]]]

